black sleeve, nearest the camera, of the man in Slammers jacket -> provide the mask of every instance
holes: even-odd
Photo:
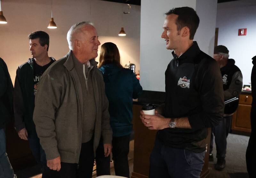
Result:
[[[215,61],[202,66],[197,74],[200,83],[200,100],[202,110],[189,115],[192,129],[214,127],[219,124],[224,114],[224,94],[220,68]]]

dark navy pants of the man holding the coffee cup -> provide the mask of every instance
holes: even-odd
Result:
[[[149,178],[199,178],[204,154],[171,148],[156,138],[150,155]]]

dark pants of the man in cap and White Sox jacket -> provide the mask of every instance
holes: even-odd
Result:
[[[231,128],[232,116],[223,117],[220,124],[212,128],[211,143],[210,143],[210,154],[213,149],[213,135],[215,137],[216,144],[216,158],[225,159],[227,152],[227,137]]]

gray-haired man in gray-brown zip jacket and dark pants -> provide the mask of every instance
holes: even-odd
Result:
[[[67,40],[68,54],[41,77],[33,119],[52,177],[92,177],[100,137],[105,156],[112,139],[104,81],[94,60],[100,41],[90,22],[71,26]]]

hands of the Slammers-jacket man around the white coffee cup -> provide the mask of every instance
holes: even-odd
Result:
[[[170,118],[155,113],[156,115],[144,115],[143,111],[140,111],[140,119],[142,123],[150,130],[162,130],[169,127]]]

